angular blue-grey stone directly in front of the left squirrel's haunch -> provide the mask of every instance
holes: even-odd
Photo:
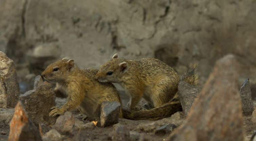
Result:
[[[118,123],[120,108],[121,104],[119,102],[103,102],[100,114],[101,127]]]

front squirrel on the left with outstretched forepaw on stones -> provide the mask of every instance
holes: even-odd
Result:
[[[112,83],[100,83],[95,79],[97,72],[95,68],[80,69],[74,60],[66,58],[47,66],[41,74],[43,79],[56,83],[54,92],[67,95],[67,102],[61,108],[52,107],[49,116],[63,115],[68,110],[80,108],[80,112],[89,118],[99,118],[102,102],[121,103]],[[123,117],[122,112],[119,117]]]

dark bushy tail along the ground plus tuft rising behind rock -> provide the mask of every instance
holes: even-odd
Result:
[[[189,69],[189,71],[182,76],[181,81],[190,83],[191,85],[197,85],[198,76],[195,72],[197,66],[198,65],[195,64],[193,68]],[[182,111],[182,106],[179,100],[179,92],[177,92],[168,103],[165,103],[159,107],[155,107],[149,110],[130,112],[126,109],[122,109],[123,117],[131,120],[159,120],[166,117],[170,117],[171,115],[179,111]]]

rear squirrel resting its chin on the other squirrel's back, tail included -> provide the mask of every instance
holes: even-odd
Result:
[[[182,81],[196,85],[196,67],[197,65],[185,73]],[[112,60],[100,66],[95,78],[99,82],[119,83],[130,94],[130,111],[122,109],[124,118],[157,120],[182,111],[178,95],[178,73],[156,58],[126,60],[115,54]],[[142,97],[154,108],[135,111],[135,106]]]

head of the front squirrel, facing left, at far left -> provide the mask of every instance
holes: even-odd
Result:
[[[62,82],[75,66],[74,60],[63,58],[50,65],[42,72],[42,77],[50,82]]]

